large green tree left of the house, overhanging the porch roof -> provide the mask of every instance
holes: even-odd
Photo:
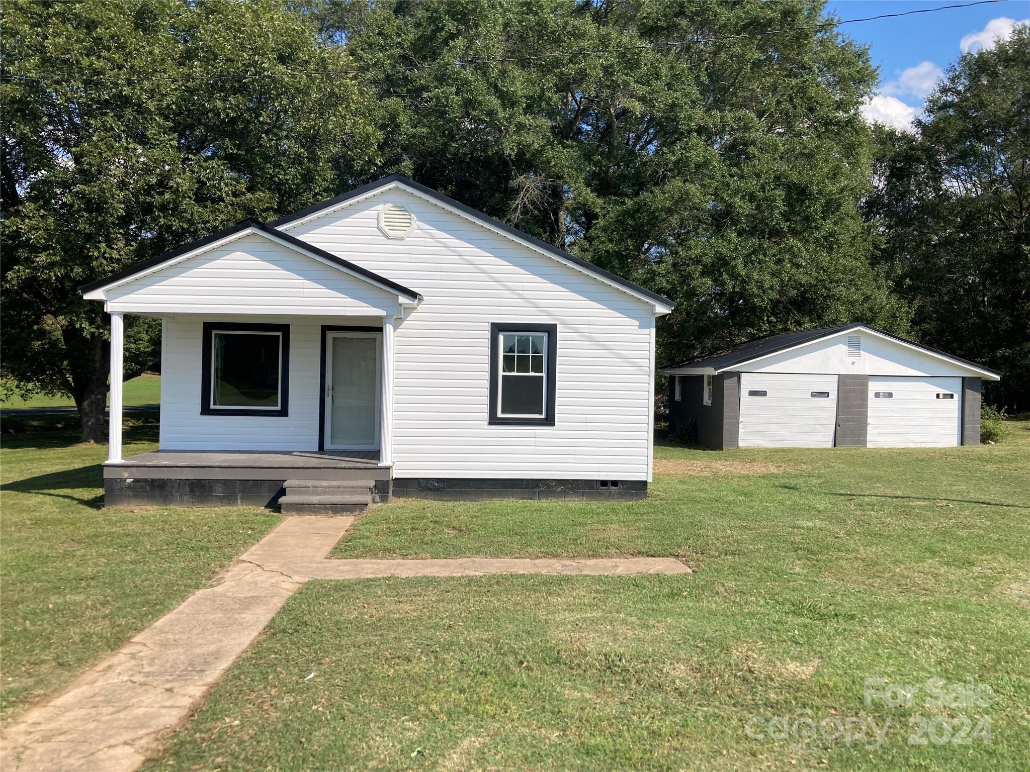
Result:
[[[367,177],[374,104],[294,74],[350,64],[272,0],[6,2],[0,38],[3,377],[70,394],[99,441],[108,323],[78,286]]]

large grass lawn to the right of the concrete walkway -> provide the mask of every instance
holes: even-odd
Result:
[[[312,582],[148,769],[1025,769],[1028,429],[947,450],[665,446],[633,503],[373,507],[338,556],[677,555],[697,572]],[[993,698],[866,706],[866,677]],[[821,723],[806,747],[799,718]]]

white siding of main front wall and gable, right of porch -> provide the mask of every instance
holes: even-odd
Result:
[[[397,328],[394,477],[650,479],[649,304],[403,191],[283,230],[423,296]],[[491,322],[557,325],[554,426],[487,423]]]

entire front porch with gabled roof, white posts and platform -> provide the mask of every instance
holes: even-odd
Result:
[[[414,290],[246,220],[83,297],[111,320],[107,504],[264,506],[287,481],[305,503],[388,497],[393,338]],[[123,458],[127,314],[162,320],[161,450]]]

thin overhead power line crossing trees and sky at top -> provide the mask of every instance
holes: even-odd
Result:
[[[749,32],[741,33],[739,35],[724,35],[716,37],[697,37],[690,40],[676,40],[664,43],[645,43],[642,45],[627,45],[619,46],[616,48],[585,48],[577,51],[562,51],[562,52],[551,52],[551,54],[537,54],[537,55],[525,55],[519,57],[500,57],[495,59],[470,59],[470,60],[455,60],[453,62],[454,66],[471,67],[481,64],[510,64],[512,62],[537,62],[546,59],[555,58],[575,58],[586,56],[588,54],[623,54],[633,50],[648,50],[655,48],[673,48],[683,45],[697,45],[700,43],[717,43],[726,40],[743,40],[748,38],[762,38],[767,35],[783,35],[789,32],[804,32],[806,30],[819,30],[826,29],[828,27],[839,27],[846,24],[858,24],[860,22],[876,22],[881,19],[898,19],[900,16],[911,16],[916,13],[933,13],[940,10],[951,10],[953,8],[971,8],[974,5],[989,5],[992,3],[1001,3],[1005,0],[976,0],[972,3],[954,3],[952,5],[939,5],[935,8],[917,8],[915,10],[899,11],[897,13],[879,13],[874,16],[863,16],[861,19],[844,19],[838,22],[823,22],[820,24],[801,25],[797,27],[784,27],[782,29],[776,30],[765,30],[763,32]],[[334,75],[363,75],[372,74],[379,72],[410,72],[419,69],[428,69],[431,65],[398,65],[393,67],[372,67],[366,69],[348,69],[348,70],[302,70],[302,71],[289,71],[289,72],[261,72],[261,73],[204,73],[200,75],[153,75],[149,77],[135,77],[135,78],[119,78],[112,77],[109,75],[50,75],[50,76],[40,76],[40,75],[6,75],[0,74],[0,79],[4,80],[38,80],[38,81],[90,81],[90,80],[118,80],[122,82],[130,81],[154,81],[154,80],[167,80],[167,81],[183,81],[183,80],[197,80],[199,78],[203,79],[252,79],[252,78],[287,78],[287,77],[307,77],[310,75],[316,76],[334,76]]]

